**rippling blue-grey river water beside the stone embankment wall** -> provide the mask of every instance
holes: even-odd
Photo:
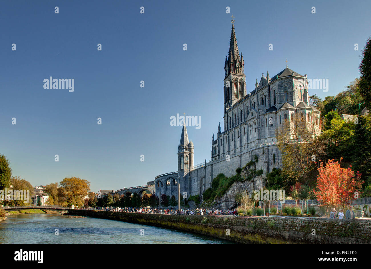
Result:
[[[58,235],[55,229],[58,229]],[[0,221],[0,242],[230,243],[209,236],[122,221],[37,213],[7,215],[5,221]]]

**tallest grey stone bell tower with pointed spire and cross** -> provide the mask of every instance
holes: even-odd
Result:
[[[233,23],[234,21],[232,21]],[[246,96],[245,63],[239,53],[236,32],[232,24],[229,54],[224,64],[224,130],[228,130],[229,119],[226,116],[228,108]],[[232,125],[231,125],[232,126]]]

